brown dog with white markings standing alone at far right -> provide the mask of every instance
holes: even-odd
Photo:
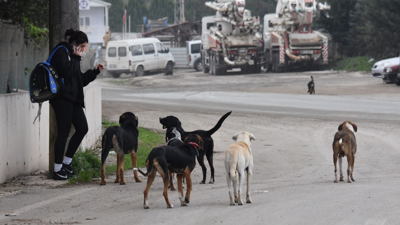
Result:
[[[336,162],[339,157],[339,169],[340,169],[340,180],[343,181],[342,172],[342,157],[347,157],[347,182],[351,183],[356,181],[353,176],[354,171],[354,155],[357,151],[356,135],[357,126],[350,122],[344,121],[338,127],[338,132],[336,132],[332,147],[333,147],[333,164],[335,165],[335,183],[338,182],[338,169],[336,167]]]

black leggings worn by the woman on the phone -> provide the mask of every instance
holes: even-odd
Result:
[[[57,138],[54,143],[54,163],[61,164],[64,158],[65,145],[70,134],[71,124],[74,125],[75,133],[72,135],[66,157],[73,158],[82,139],[88,133],[88,121],[81,104],[77,104],[66,98],[58,98],[51,103],[56,114]]]

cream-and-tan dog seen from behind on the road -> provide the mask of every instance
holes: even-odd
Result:
[[[225,153],[225,169],[226,181],[228,182],[230,205],[243,205],[242,186],[244,183],[244,171],[247,171],[247,191],[246,203],[252,203],[250,199],[250,184],[253,171],[253,155],[250,149],[250,141],[256,140],[253,134],[246,131],[237,133],[232,137],[235,144],[230,145]],[[239,193],[238,193],[238,177],[239,177]],[[232,186],[235,200],[232,197]]]

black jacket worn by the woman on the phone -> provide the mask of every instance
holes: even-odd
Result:
[[[82,107],[85,108],[83,87],[96,79],[97,74],[100,73],[100,69],[90,69],[82,73],[80,71],[81,56],[75,55],[67,42],[61,42],[56,47],[60,45],[66,46],[68,52],[65,48],[58,48],[54,53],[50,64],[54,66],[58,74],[64,78],[64,86],[62,92],[60,92],[56,98],[52,98],[50,103],[56,101],[57,98],[66,98],[72,102],[81,104]]]

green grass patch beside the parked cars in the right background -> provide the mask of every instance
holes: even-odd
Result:
[[[343,58],[337,61],[332,67],[334,70],[347,70],[347,71],[370,71],[377,60],[368,62],[371,57],[368,56],[357,56],[350,58]]]

